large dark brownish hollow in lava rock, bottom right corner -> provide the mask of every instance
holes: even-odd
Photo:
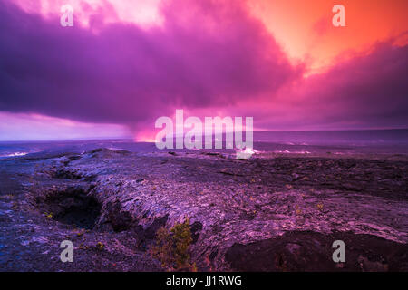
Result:
[[[332,260],[335,240],[345,242],[345,263]],[[407,249],[406,244],[352,232],[292,231],[247,245],[236,243],[225,258],[236,271],[406,271]]]

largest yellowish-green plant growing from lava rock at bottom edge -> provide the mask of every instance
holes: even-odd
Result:
[[[191,230],[189,218],[187,218],[182,223],[176,223],[170,230],[161,227],[156,233],[156,245],[151,248],[151,254],[161,262],[161,266],[169,270],[194,271],[196,266],[191,264],[189,248],[191,242]]]

